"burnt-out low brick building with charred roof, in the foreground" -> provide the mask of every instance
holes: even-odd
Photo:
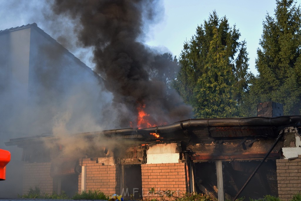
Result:
[[[152,198],[149,189],[155,188],[206,193],[219,200],[266,194],[288,199],[294,186],[301,185],[299,176],[287,176],[285,182],[279,178],[283,164],[301,171],[300,121],[301,116],[189,119],[152,128],[78,133],[68,136],[69,141],[85,139],[91,146],[81,149],[77,158],[61,157],[65,147],[56,136],[5,144],[23,148],[24,193],[38,184],[49,193],[96,189]],[[74,181],[72,190],[68,180]],[[292,187],[283,188],[290,181],[295,181]]]

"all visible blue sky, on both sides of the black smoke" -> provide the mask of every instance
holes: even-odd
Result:
[[[42,2],[41,0],[0,0],[0,30],[36,22],[38,27],[56,39],[55,35],[52,35],[53,30],[58,30],[60,27],[45,23]],[[296,2],[299,5],[301,0]],[[162,0],[161,5],[157,24],[151,24],[145,30],[144,42],[147,45],[157,48],[162,53],[170,52],[179,57],[184,41],[189,41],[191,36],[196,33],[197,26],[203,24],[204,20],[208,19],[209,14],[215,10],[219,17],[226,16],[228,18],[231,27],[235,24],[236,28],[239,29],[240,41],[246,40],[247,42],[250,71],[257,74],[255,59],[256,49],[259,47],[258,43],[262,34],[262,22],[267,13],[274,15],[275,1]],[[89,54],[88,50],[74,53],[71,49],[70,52],[92,67],[91,61],[83,56]]]

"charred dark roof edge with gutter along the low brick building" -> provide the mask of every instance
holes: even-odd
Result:
[[[70,135],[76,137],[95,137],[103,134],[105,137],[112,139],[126,139],[129,138],[139,140],[150,140],[152,136],[149,133],[171,133],[187,129],[208,128],[208,127],[248,127],[248,129],[256,129],[256,127],[283,127],[283,126],[300,126],[301,116],[281,116],[281,117],[249,117],[249,118],[213,118],[213,119],[188,119],[185,121],[178,121],[173,124],[165,126],[157,126],[151,128],[124,128],[114,130],[104,130],[87,133],[76,133]],[[164,137],[164,136],[162,136]],[[33,141],[42,141],[44,139],[56,139],[55,136],[34,136],[11,139],[6,142],[6,146],[20,145],[22,143],[29,143]],[[155,137],[154,137],[155,139]]]

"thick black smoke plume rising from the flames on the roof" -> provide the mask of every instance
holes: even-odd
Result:
[[[176,61],[141,42],[158,4],[154,0],[57,0],[51,5],[56,15],[78,23],[73,30],[77,43],[93,47],[95,71],[113,93],[120,127],[128,127],[129,121],[135,127],[137,108],[143,105],[151,125],[191,117],[191,107],[170,87]]]

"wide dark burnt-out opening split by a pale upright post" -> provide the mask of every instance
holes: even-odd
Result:
[[[260,162],[260,160],[222,162],[224,199],[234,199]],[[217,198],[216,162],[194,162],[194,167],[195,191]],[[259,199],[265,195],[278,197],[275,160],[267,160],[262,164],[238,198]]]

